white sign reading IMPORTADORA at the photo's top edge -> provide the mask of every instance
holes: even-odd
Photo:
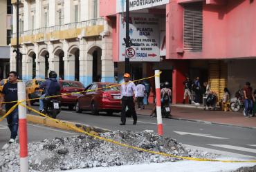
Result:
[[[162,6],[169,3],[169,0],[129,0],[129,10],[140,10],[155,6]],[[126,0],[116,0],[116,12],[125,12]]]

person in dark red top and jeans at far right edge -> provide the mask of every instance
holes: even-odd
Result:
[[[253,116],[253,102],[255,102],[253,88],[250,87],[249,82],[246,82],[246,85],[244,87],[244,116]]]

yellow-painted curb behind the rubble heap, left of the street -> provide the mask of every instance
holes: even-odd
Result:
[[[67,127],[67,126],[63,125],[62,123],[60,123],[60,122],[55,122],[54,120],[51,120],[49,118],[45,118],[45,117],[42,117],[42,116],[35,116],[35,115],[27,114],[27,121],[31,122],[33,124],[44,125],[44,126],[47,126],[47,127],[53,127],[53,128],[57,128],[57,129],[67,130],[67,131],[75,131],[77,133],[80,133],[77,130],[72,129],[70,127]],[[110,131],[108,129],[102,129],[102,128],[99,128],[99,127],[92,127],[90,125],[84,125],[84,124],[80,124],[80,123],[77,123],[77,122],[69,122],[69,121],[66,121],[66,120],[60,120],[60,121],[66,123],[67,125],[71,125],[73,127],[77,127],[79,129],[82,129],[83,131],[86,131],[88,133],[93,133],[95,135],[98,135],[98,133],[106,133],[106,132]]]

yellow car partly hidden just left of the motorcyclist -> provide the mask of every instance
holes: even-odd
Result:
[[[42,96],[43,89],[39,89],[39,86],[44,83],[44,79],[32,79],[26,81],[26,91],[28,94],[28,98],[39,98]],[[30,104],[33,105],[35,102],[39,102],[39,100],[30,100]]]

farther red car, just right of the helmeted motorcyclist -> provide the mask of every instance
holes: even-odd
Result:
[[[68,109],[72,110],[75,107],[78,96],[75,92],[82,92],[84,90],[84,85],[79,81],[73,80],[59,80],[60,83],[60,102],[62,106],[68,106]],[[69,95],[64,95],[69,94]]]

